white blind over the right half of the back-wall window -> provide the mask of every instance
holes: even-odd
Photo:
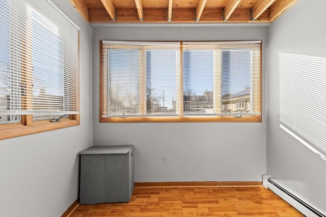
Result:
[[[184,116],[260,115],[260,41],[183,42],[182,49]]]

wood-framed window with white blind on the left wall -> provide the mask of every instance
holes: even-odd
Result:
[[[78,27],[48,1],[0,6],[0,139],[78,125]]]

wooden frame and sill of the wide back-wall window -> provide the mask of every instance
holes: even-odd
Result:
[[[260,70],[260,89],[259,91],[255,92],[255,94],[260,95],[260,112],[262,112],[262,47],[260,44],[260,64],[259,70]],[[183,59],[183,52],[182,52],[182,42],[180,42],[180,61],[182,62]],[[100,122],[262,122],[262,115],[250,115],[250,116],[232,116],[232,115],[207,115],[207,116],[183,116],[183,65],[180,63],[180,84],[178,86],[180,87],[180,116],[178,117],[171,117],[171,116],[162,116],[162,117],[102,117],[102,103],[105,103],[106,100],[103,99],[102,91],[103,88],[107,88],[103,86],[103,44],[102,41],[100,41],[100,103],[99,103],[99,120]],[[215,91],[215,90],[214,90]],[[106,104],[105,104],[106,105]]]

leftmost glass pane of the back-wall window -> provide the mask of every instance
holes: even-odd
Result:
[[[139,51],[112,49],[107,53],[109,114],[138,114]]]

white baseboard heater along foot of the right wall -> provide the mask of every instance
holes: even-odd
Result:
[[[268,176],[268,175],[266,175]],[[264,181],[265,179],[265,181]],[[263,177],[263,184],[265,188],[270,189],[275,194],[279,195],[282,199],[284,199],[286,202],[291,204],[294,208],[299,210],[301,213],[308,217],[326,217],[325,213],[322,213],[322,211],[318,210],[313,205],[303,201],[299,197],[295,196],[290,191],[286,190],[285,187],[283,187],[280,183],[275,181],[270,176]]]

